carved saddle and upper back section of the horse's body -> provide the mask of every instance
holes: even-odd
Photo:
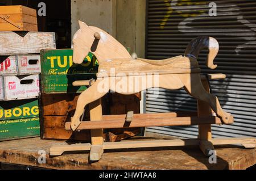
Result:
[[[115,74],[110,74],[115,69]],[[165,60],[137,59],[113,59],[101,62],[97,77],[109,75],[112,77],[119,73],[125,75],[140,74],[181,74],[181,73],[200,73],[198,62],[191,57],[177,56]]]

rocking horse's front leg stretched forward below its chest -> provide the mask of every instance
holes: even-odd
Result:
[[[71,129],[73,131],[75,131],[77,127],[79,127],[79,125],[81,124],[80,117],[84,112],[85,106],[88,105],[89,103],[94,102],[97,99],[102,98],[106,93],[108,93],[109,91],[108,87],[105,87],[105,89],[102,89],[102,86],[99,85],[101,81],[104,81],[104,80],[97,80],[92,86],[90,86],[88,89],[86,89],[84,92],[80,94],[76,104],[75,115],[71,117]],[[109,86],[109,85],[105,84],[105,86]]]

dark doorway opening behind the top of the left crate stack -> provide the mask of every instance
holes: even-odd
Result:
[[[0,0],[0,5],[23,5],[40,9],[46,4],[46,16],[38,15],[38,31],[55,32],[56,48],[71,48],[71,0]]]

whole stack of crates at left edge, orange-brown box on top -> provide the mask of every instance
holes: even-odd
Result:
[[[55,33],[36,32],[35,19],[36,10],[0,7],[0,141],[40,135],[39,53],[56,46]]]

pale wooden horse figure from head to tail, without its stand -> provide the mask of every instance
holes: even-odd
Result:
[[[80,117],[84,112],[84,107],[102,98],[109,90],[117,91],[119,94],[135,94],[143,91],[142,85],[137,87],[137,92],[121,92],[116,89],[115,86],[120,81],[120,77],[117,74],[129,77],[129,73],[158,73],[159,87],[170,90],[184,87],[188,94],[191,94],[194,98],[207,102],[213,111],[221,117],[223,123],[228,124],[233,120],[230,113],[222,110],[218,98],[205,91],[201,83],[197,56],[201,49],[209,48],[207,66],[210,69],[215,69],[217,65],[213,64],[213,60],[218,53],[217,40],[212,37],[199,37],[188,45],[185,50],[185,56],[177,56],[166,60],[145,60],[141,58],[134,60],[125,47],[105,31],[97,27],[89,27],[84,22],[79,22],[79,24],[80,30],[76,32],[73,38],[73,62],[75,64],[82,64],[86,55],[92,52],[97,57],[100,65],[98,68],[99,73],[97,74],[97,78],[100,79],[97,79],[89,89],[80,95],[75,115],[72,117],[71,128],[73,131],[81,123]],[[115,70],[114,75],[110,75],[110,69]],[[138,76],[142,77],[143,75]],[[146,76],[151,76],[151,74]],[[108,89],[105,87],[106,91],[99,90],[99,84],[102,81],[109,82]],[[126,87],[135,87],[135,85],[129,85],[128,81],[123,82],[123,84],[126,84]],[[154,86],[154,83],[150,82],[146,83],[146,85],[144,89],[149,89]]]

